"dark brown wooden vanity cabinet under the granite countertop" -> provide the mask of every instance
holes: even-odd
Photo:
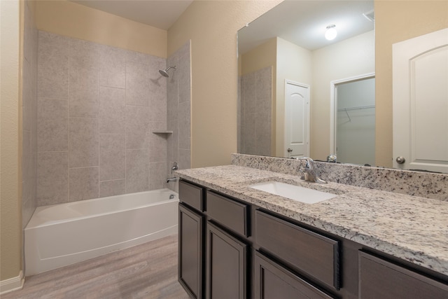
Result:
[[[179,281],[191,298],[448,298],[448,277],[179,182]]]

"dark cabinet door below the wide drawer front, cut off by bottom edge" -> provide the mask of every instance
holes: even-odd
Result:
[[[255,299],[330,299],[297,275],[255,252]]]

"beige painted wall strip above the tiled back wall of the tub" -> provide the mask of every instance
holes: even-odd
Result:
[[[71,1],[36,1],[36,27],[167,58],[167,31],[88,8]]]

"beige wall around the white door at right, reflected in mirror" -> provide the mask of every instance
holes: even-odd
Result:
[[[376,162],[392,166],[392,44],[448,27],[448,1],[375,1]]]

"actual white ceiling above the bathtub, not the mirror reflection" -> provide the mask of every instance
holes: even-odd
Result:
[[[193,0],[71,0],[113,15],[168,30]]]

